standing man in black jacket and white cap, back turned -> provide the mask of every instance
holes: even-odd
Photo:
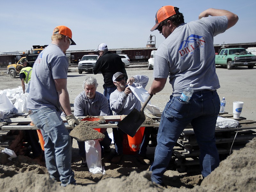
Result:
[[[126,73],[124,68],[124,63],[119,55],[115,53],[111,53],[108,51],[108,46],[105,43],[100,43],[98,46],[98,51],[100,54],[100,58],[97,60],[96,64],[93,67],[93,74],[102,73],[104,78],[104,92],[103,95],[107,97],[109,104],[110,94],[116,90],[116,86],[112,81],[112,77],[116,72]],[[126,79],[127,80],[127,79]],[[109,106],[109,115],[113,115]]]

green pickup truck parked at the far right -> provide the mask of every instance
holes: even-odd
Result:
[[[256,64],[256,56],[247,53],[244,48],[222,49],[220,54],[215,55],[215,65],[226,65],[227,69],[236,66],[248,66],[252,69]]]

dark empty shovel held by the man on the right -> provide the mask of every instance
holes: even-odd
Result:
[[[153,95],[148,96],[140,111],[134,108],[123,120],[121,120],[117,124],[117,127],[124,131],[124,133],[133,137],[140,128],[140,126],[143,124],[143,122],[146,120],[144,108],[146,107],[152,96]]]

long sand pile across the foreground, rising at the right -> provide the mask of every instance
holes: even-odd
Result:
[[[69,185],[66,188],[60,187],[60,183],[54,182],[49,178],[43,170],[41,174],[36,173],[35,167],[26,166],[22,170],[20,168],[6,165],[0,165],[0,188],[5,191],[111,191],[111,192],[128,192],[128,191],[256,191],[256,175],[255,175],[255,153],[256,138],[249,142],[243,149],[235,151],[227,159],[220,163],[209,176],[207,176],[200,186],[194,188],[163,188],[155,185],[150,181],[150,172],[142,171],[136,173],[133,171],[129,176],[121,178],[105,178],[99,180],[96,184],[87,184],[86,186]],[[110,165],[109,165],[110,166]],[[38,168],[38,167],[37,167]],[[111,167],[112,168],[112,167]],[[30,170],[29,170],[30,169]],[[39,168],[38,168],[39,169]],[[114,171],[115,168],[112,168]],[[25,172],[25,173],[23,173]],[[118,169],[116,169],[118,172]],[[99,174],[93,174],[91,177],[97,177]],[[102,175],[100,175],[102,176]],[[196,177],[198,179],[198,177]],[[85,179],[85,178],[84,178]],[[193,180],[193,177],[188,179]],[[170,186],[169,186],[170,187]]]

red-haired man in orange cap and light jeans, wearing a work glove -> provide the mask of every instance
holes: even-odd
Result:
[[[71,169],[71,138],[60,114],[66,114],[72,128],[79,121],[71,113],[67,90],[68,58],[65,55],[72,40],[72,32],[66,26],[53,30],[52,44],[37,57],[32,70],[28,95],[29,117],[41,129],[44,137],[45,163],[54,180],[61,186],[76,184]]]

